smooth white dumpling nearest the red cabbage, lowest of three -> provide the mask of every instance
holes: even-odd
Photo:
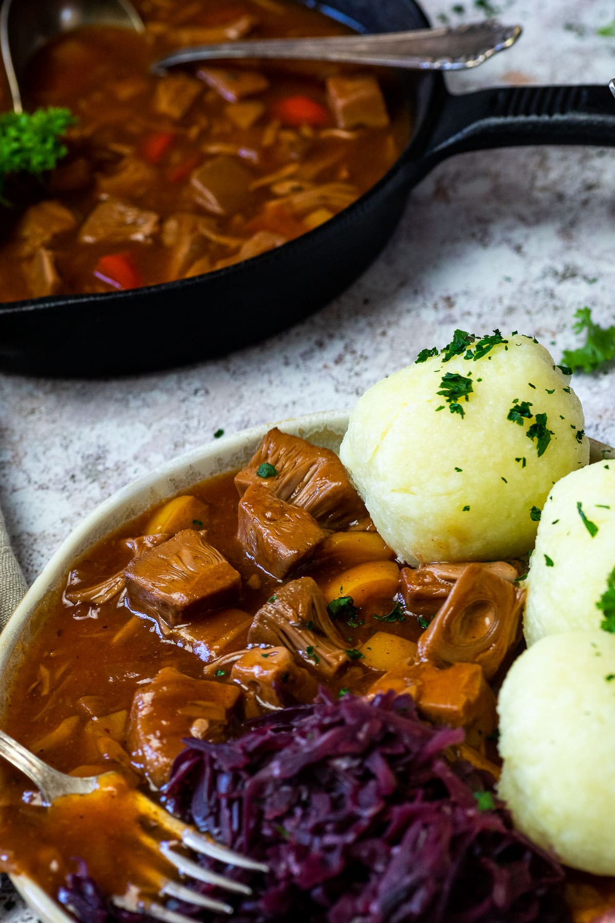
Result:
[[[515,825],[565,865],[615,875],[615,635],[543,638],[498,702],[499,795]]]

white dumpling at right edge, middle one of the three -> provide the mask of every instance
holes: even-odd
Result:
[[[614,569],[615,461],[605,461],[558,481],[542,510],[526,581],[527,643],[599,628]]]

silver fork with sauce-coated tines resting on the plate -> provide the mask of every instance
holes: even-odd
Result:
[[[3,756],[28,776],[39,789],[42,801],[46,806],[51,805],[57,798],[65,795],[91,795],[92,792],[101,787],[101,779],[110,778],[112,775],[112,773],[101,773],[101,775],[78,777],[60,773],[57,769],[53,769],[52,766],[39,759],[38,756],[35,756],[34,753],[31,753],[29,749],[26,749],[13,737],[9,737],[3,730],[0,730],[0,756]],[[194,827],[183,823],[183,821],[178,821],[177,818],[173,817],[165,809],[160,808],[159,805],[143,795],[142,792],[135,790],[134,797],[142,809],[143,815],[157,821],[162,830],[171,833],[174,841],[179,841],[186,849],[200,853],[202,856],[225,862],[235,868],[261,872],[268,871],[267,866],[262,862],[254,862],[253,859],[242,856],[240,853],[227,849],[226,846],[219,845],[215,840],[197,833]],[[175,852],[171,842],[160,842],[158,844],[160,853],[177,869],[181,878],[203,881],[206,884],[214,885],[232,893],[252,893],[252,889],[247,885],[239,881],[232,881],[230,878],[209,871],[209,869],[203,869],[194,859]],[[230,904],[225,904],[223,901],[216,900],[213,897],[192,891],[181,881],[171,879],[164,881],[159,894],[162,898],[171,897],[182,901],[184,904],[204,907],[215,913],[233,913],[233,908]],[[186,917],[175,910],[170,910],[166,905],[159,904],[156,901],[138,902],[134,898],[128,901],[126,898],[118,896],[113,897],[112,900],[114,904],[133,913],[148,913],[150,917],[155,917],[161,920],[162,923],[194,923],[191,917]]]

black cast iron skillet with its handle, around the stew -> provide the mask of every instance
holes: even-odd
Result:
[[[414,0],[328,4],[325,12],[365,31],[429,25]],[[0,369],[97,377],[229,353],[289,327],[347,288],[392,234],[410,189],[451,154],[530,144],[615,145],[615,102],[606,81],[453,96],[439,74],[401,79],[414,136],[392,169],[349,209],[277,250],[206,276],[0,305]]]

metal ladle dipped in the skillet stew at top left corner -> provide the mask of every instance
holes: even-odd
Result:
[[[0,10],[0,51],[16,113],[23,112],[19,80],[46,42],[80,26],[145,30],[129,0],[4,0]]]

